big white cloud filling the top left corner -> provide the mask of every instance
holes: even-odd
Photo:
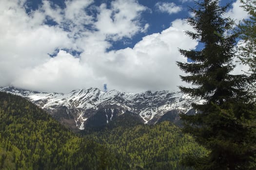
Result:
[[[25,68],[46,61],[56,47],[72,47],[67,33],[58,27],[42,25],[44,14],[25,13],[15,0],[0,2],[0,78],[11,84]]]

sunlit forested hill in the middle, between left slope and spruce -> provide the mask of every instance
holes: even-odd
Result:
[[[93,138],[117,153],[119,160],[129,164],[126,169],[190,170],[179,165],[179,160],[185,153],[206,154],[206,150],[198,147],[191,136],[182,135],[180,129],[171,122],[150,126],[139,123],[138,120],[136,122],[128,114],[122,115],[120,119],[126,123],[113,121],[104,130],[86,132],[89,134],[86,138]]]

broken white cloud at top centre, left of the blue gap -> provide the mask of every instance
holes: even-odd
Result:
[[[122,37],[131,38],[144,30],[139,23],[139,14],[146,9],[135,0],[112,1],[110,9],[107,9],[106,4],[101,4],[96,28],[101,34],[106,34],[108,38],[114,40]]]

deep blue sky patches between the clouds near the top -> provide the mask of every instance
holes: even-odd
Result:
[[[92,6],[100,6],[102,3],[106,3],[107,8],[111,8],[111,2],[113,0],[95,0],[93,3],[91,3],[87,9],[87,12],[95,15],[97,12],[95,10],[92,10]],[[51,0],[51,6],[53,8],[61,7],[62,9],[65,9],[67,5],[65,4],[65,0]],[[108,51],[111,50],[119,50],[123,48],[133,48],[134,45],[142,39],[143,36],[147,34],[154,34],[159,33],[162,30],[168,28],[170,26],[170,23],[174,21],[177,18],[185,18],[188,17],[188,7],[193,6],[194,3],[192,1],[184,1],[181,0],[138,0],[138,4],[145,6],[147,9],[140,14],[140,23],[141,24],[149,24],[150,27],[148,27],[146,32],[138,32],[137,34],[134,34],[132,38],[123,38],[118,41],[111,41],[112,46],[107,49]],[[39,7],[43,5],[42,0],[27,0],[25,3],[25,7],[27,10],[27,13],[29,14],[31,11],[38,10]],[[162,11],[159,9],[159,6],[163,6]],[[164,8],[165,6],[165,8]],[[168,9],[170,8],[170,9]],[[168,12],[168,10],[177,8],[173,12]],[[53,26],[56,24],[51,18],[46,18],[47,21],[45,21],[50,26]]]

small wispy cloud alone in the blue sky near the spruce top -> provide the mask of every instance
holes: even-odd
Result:
[[[175,14],[182,10],[180,6],[177,6],[173,2],[157,2],[156,8],[162,13]]]

